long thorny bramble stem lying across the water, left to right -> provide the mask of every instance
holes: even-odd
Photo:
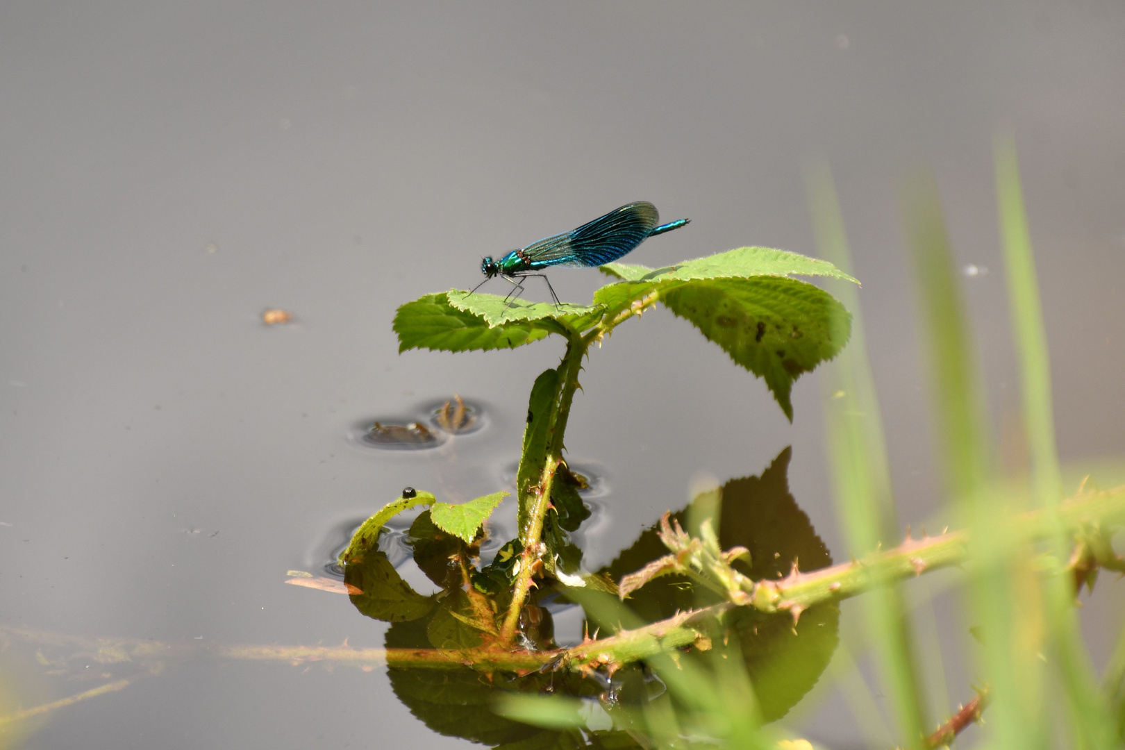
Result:
[[[1068,531],[1081,528],[1083,524],[1119,524],[1125,521],[1125,487],[1114,490],[1086,493],[1058,508],[1058,515]],[[1017,533],[1027,539],[1043,539],[1052,532],[1051,517],[1040,512],[1025,513],[1012,518]],[[938,567],[958,564],[968,559],[964,532],[942,534],[921,540],[906,540],[899,548],[876,552],[845,564],[824,568],[810,573],[793,571],[778,581],[758,581],[755,596],[748,606],[765,612],[788,611],[794,618],[813,604],[838,600],[855,596],[872,586],[886,585],[894,579],[920,575]],[[845,585],[846,582],[846,585]],[[759,589],[764,596],[759,597]],[[363,669],[387,663],[400,668],[459,669],[469,667],[480,672],[507,671],[526,674],[537,669],[566,669],[587,672],[592,669],[613,670],[623,663],[638,661],[666,653],[672,649],[695,645],[709,647],[709,625],[714,618],[729,612],[736,605],[730,602],[716,604],[703,609],[682,612],[674,617],[657,623],[622,630],[601,640],[587,640],[569,649],[550,651],[511,651],[503,648],[447,651],[440,649],[353,649],[340,647],[285,647],[220,644],[170,644],[140,639],[83,639],[75,636],[37,633],[19,629],[0,629],[0,634],[16,636],[33,643],[55,647],[71,647],[82,651],[83,659],[93,658],[101,665],[134,663],[148,665],[151,671],[159,671],[169,661],[187,660],[209,654],[219,659],[288,661],[308,663],[324,661],[350,663]],[[516,612],[519,612],[516,609]],[[519,614],[516,614],[516,620]],[[73,699],[92,697],[105,690],[125,687],[127,680],[118,680],[101,688],[90,690]],[[987,693],[970,702],[936,732],[927,738],[929,747],[948,742],[957,732],[979,717],[987,702]],[[44,706],[44,711],[56,707]]]

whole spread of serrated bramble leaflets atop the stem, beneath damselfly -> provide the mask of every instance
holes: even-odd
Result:
[[[763,378],[792,419],[793,381],[835,356],[850,335],[850,316],[831,295],[789,278],[855,281],[814,257],[737,247],[659,269],[608,263],[601,270],[620,281],[598,289],[590,306],[505,300],[457,289],[426,295],[398,308],[399,351],[514,349],[551,333],[609,332],[659,301]]]

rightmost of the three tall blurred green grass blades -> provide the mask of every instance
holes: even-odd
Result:
[[[1050,512],[1063,499],[1062,475],[1055,450],[1051,361],[1020,189],[1016,145],[1010,136],[997,142],[996,184],[1008,302],[1019,361],[1024,424],[1032,452],[1032,490],[1036,503]],[[1061,525],[1056,527],[1059,532],[1051,540],[1053,551],[1056,559],[1065,560],[1069,557],[1069,543]],[[1078,747],[1112,747],[1114,722],[1105,697],[1098,692],[1094,669],[1082,648],[1070,577],[1052,576],[1044,585],[1050,623],[1047,639],[1059,657],[1070,722],[1078,735],[1074,740]]]

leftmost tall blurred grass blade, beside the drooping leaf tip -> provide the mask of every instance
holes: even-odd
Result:
[[[820,168],[810,172],[807,184],[820,253],[848,273],[850,257],[831,174]],[[825,371],[821,382],[840,522],[852,554],[861,557],[880,543],[898,542],[898,524],[858,295],[854,288],[842,288],[837,293],[852,311],[852,341]],[[864,597],[863,607],[902,741],[907,747],[924,747],[928,722],[901,589],[876,588]]]

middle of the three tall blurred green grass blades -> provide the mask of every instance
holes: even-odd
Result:
[[[983,633],[984,679],[992,707],[986,730],[999,748],[1046,748],[1048,712],[1043,701],[1042,621],[1035,579],[1019,566],[1022,551],[991,486],[986,410],[957,286],[953,252],[932,171],[919,170],[900,191],[907,246],[921,308],[924,350],[932,373],[934,416],[947,491],[972,530],[970,625]],[[991,490],[991,491],[990,491]]]

